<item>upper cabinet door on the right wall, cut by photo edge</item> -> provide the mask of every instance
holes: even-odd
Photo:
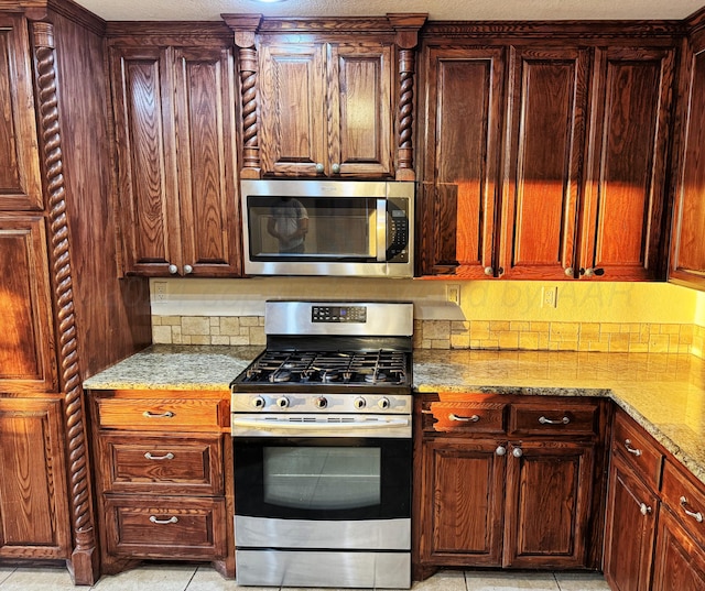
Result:
[[[675,197],[669,278],[705,289],[705,51],[690,58],[685,146]]]

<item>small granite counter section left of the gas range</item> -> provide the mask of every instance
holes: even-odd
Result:
[[[84,382],[86,390],[228,390],[262,346],[153,344]]]

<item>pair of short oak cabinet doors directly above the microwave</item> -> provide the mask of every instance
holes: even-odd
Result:
[[[384,177],[392,161],[392,46],[262,43],[262,174]]]

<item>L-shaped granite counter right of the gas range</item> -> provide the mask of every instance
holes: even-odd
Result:
[[[687,354],[414,351],[421,392],[608,396],[705,483],[705,361]]]

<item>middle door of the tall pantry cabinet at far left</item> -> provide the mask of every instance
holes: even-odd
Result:
[[[44,221],[0,215],[0,391],[56,386]]]

